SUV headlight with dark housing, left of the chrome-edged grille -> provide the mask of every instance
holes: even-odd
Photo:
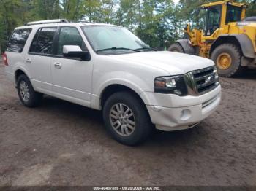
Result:
[[[179,96],[187,95],[187,86],[183,76],[157,77],[154,79],[156,93],[173,93]]]

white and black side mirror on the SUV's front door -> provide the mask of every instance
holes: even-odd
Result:
[[[79,46],[64,45],[63,55],[68,58],[81,58],[83,61],[90,61],[91,55],[88,51],[83,51]]]

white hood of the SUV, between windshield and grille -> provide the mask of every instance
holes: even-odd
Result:
[[[214,62],[207,58],[167,51],[139,52],[112,56],[121,61],[162,69],[167,71],[170,75],[186,74],[189,71],[203,69],[214,65]]]

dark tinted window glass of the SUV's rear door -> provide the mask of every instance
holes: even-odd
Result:
[[[40,54],[51,54],[53,50],[53,37],[56,27],[41,28],[34,36],[29,52]]]

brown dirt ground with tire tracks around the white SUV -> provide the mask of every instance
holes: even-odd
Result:
[[[0,65],[0,185],[256,185],[256,71],[221,79],[222,104],[197,128],[126,147],[101,112],[24,107]]]

